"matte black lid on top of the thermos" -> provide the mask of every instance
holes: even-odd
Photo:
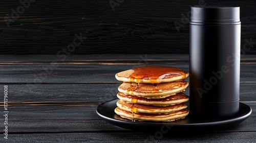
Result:
[[[193,6],[190,23],[240,24],[240,7]]]

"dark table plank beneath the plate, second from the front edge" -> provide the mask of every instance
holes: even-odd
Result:
[[[242,123],[220,131],[256,132],[256,105],[246,103],[252,114]],[[116,132],[127,131],[103,121],[96,114],[97,106],[9,106],[8,128],[10,133],[41,132]],[[3,122],[4,118],[0,118]],[[1,130],[3,132],[3,130]],[[219,131],[218,131],[219,132]]]

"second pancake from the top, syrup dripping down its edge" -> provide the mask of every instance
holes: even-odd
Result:
[[[159,83],[157,85],[147,83],[140,83],[138,85],[136,83],[124,82],[118,87],[118,91],[147,99],[161,99],[184,91],[187,86],[188,82],[186,81]]]

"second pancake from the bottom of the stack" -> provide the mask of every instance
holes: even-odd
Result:
[[[187,108],[187,105],[185,103],[161,107],[161,106],[133,104],[133,103],[127,103],[119,100],[116,104],[117,104],[117,107],[128,112],[148,113],[148,114],[172,113],[172,112],[177,112],[179,110]]]

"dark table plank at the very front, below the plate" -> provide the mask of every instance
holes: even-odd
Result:
[[[255,142],[255,132],[166,133],[146,132],[10,134],[8,141],[20,142]]]

